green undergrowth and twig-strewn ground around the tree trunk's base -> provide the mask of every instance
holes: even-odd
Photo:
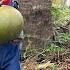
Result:
[[[53,36],[43,48],[37,49],[31,47],[31,41],[28,39],[28,45],[21,50],[24,66],[34,63],[33,68],[36,70],[66,70],[66,66],[62,65],[66,65],[66,59],[70,59],[70,8],[64,0],[52,0],[51,14]],[[33,68],[31,70],[34,70]]]

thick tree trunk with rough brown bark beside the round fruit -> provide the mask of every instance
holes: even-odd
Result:
[[[31,42],[32,47],[44,47],[52,35],[51,0],[19,0],[19,4],[25,18],[24,46]]]

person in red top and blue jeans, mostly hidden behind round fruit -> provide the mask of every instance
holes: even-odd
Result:
[[[11,0],[2,0],[0,5],[10,5]],[[0,44],[0,70],[21,70],[20,68],[20,39]]]

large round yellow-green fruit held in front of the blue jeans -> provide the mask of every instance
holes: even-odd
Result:
[[[23,16],[11,7],[0,7],[0,43],[16,39],[22,30]]]

